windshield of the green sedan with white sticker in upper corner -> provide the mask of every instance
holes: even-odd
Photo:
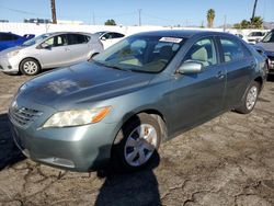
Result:
[[[137,72],[160,72],[178,53],[186,38],[134,35],[93,58],[96,64]]]

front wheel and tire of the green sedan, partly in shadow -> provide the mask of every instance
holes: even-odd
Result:
[[[149,164],[158,157],[160,141],[158,121],[145,113],[136,115],[121,128],[115,138],[112,149],[115,171],[132,172]]]

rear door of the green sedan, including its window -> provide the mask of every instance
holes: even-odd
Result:
[[[219,38],[222,66],[227,69],[226,107],[240,103],[255,67],[255,59],[244,45],[229,37]]]

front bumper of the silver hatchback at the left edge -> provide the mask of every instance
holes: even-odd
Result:
[[[0,71],[5,73],[18,73],[20,60],[16,57],[0,57]]]

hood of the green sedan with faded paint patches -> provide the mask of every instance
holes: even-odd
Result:
[[[54,108],[77,107],[138,90],[147,85],[153,76],[87,61],[27,81],[19,90],[18,99]]]

